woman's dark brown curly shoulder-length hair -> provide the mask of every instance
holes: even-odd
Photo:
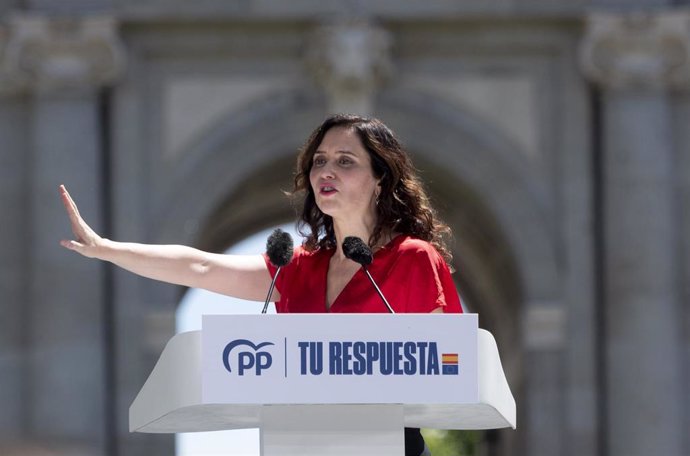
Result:
[[[331,128],[350,128],[357,133],[371,157],[374,176],[380,179],[377,222],[369,245],[373,247],[393,233],[407,234],[431,243],[450,264],[452,256],[445,242],[450,228],[436,216],[409,155],[383,122],[356,115],[328,117],[312,132],[297,157],[293,195],[304,198],[298,229],[306,237],[305,248],[313,251],[336,244],[333,219],[316,205],[309,181],[314,154]]]

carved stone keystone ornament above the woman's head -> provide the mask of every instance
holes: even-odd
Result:
[[[321,26],[309,37],[307,66],[329,97],[330,112],[370,114],[376,88],[391,73],[391,36],[366,22]]]

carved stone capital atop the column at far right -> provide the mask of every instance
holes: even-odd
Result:
[[[585,76],[606,89],[687,89],[690,14],[592,14],[580,61]]]

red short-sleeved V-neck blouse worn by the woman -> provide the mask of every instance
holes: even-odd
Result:
[[[334,249],[307,252],[298,247],[292,262],[276,280],[280,301],[278,313],[385,313],[374,286],[360,268],[326,308],[326,276]],[[264,254],[271,277],[276,267]],[[374,253],[369,273],[396,313],[428,313],[442,307],[447,313],[462,313],[455,283],[446,262],[426,241],[397,236]]]

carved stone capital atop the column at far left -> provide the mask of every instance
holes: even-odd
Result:
[[[112,18],[19,16],[9,24],[2,70],[28,90],[56,92],[110,85],[124,62]]]

